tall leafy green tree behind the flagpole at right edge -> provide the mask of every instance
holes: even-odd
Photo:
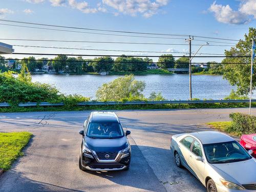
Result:
[[[240,39],[236,47],[225,50],[226,56],[251,55],[251,39],[256,36],[256,28],[249,28],[249,33],[245,34],[245,39]],[[247,95],[250,90],[250,64],[251,57],[227,57],[222,60],[223,63],[231,62],[231,64],[223,64],[223,77],[229,81],[232,86],[237,86],[237,92],[241,95]],[[237,64],[241,63],[241,64]],[[253,68],[256,67],[255,59]],[[252,76],[252,88],[256,88],[256,70]]]

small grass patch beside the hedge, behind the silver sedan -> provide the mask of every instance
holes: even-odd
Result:
[[[233,136],[240,136],[240,133],[233,132],[231,128],[231,121],[221,121],[221,122],[209,122],[206,123],[209,127],[216,129],[220,132],[228,133]]]

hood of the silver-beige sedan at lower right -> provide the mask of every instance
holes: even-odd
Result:
[[[211,164],[223,179],[238,184],[256,183],[256,160],[249,159],[233,163]]]

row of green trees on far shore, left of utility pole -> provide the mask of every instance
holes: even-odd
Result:
[[[167,56],[167,57],[166,57]],[[156,62],[157,66],[162,69],[166,68],[188,68],[189,58],[183,55],[179,59],[175,59],[172,54],[161,55]],[[2,57],[4,58],[4,57]],[[12,58],[8,58],[12,60]],[[7,60],[0,60],[0,70],[7,71],[5,67]],[[71,73],[86,73],[86,72],[138,72],[146,71],[147,67],[154,64],[153,59],[145,57],[132,57],[122,55],[116,59],[105,56],[96,57],[94,59],[83,59],[82,57],[68,57],[67,55],[58,55],[52,59],[25,57],[23,60],[14,59],[12,69],[16,69],[18,65],[26,64],[30,72],[35,72],[36,69],[41,70],[43,66],[49,66],[49,69]]]

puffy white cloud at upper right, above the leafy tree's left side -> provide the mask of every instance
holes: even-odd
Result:
[[[249,22],[249,18],[245,13],[233,11],[229,5],[218,5],[216,1],[211,4],[209,11],[214,12],[218,22],[224,24],[246,24]]]

